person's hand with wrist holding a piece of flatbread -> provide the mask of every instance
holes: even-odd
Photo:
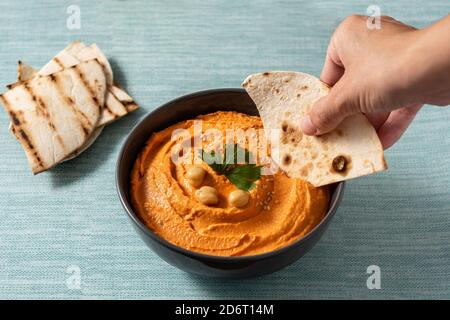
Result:
[[[320,77],[333,87],[311,108],[301,128],[305,134],[320,135],[346,117],[364,113],[387,149],[423,104],[450,103],[450,58],[444,54],[450,54],[450,45],[441,45],[443,39],[433,41],[437,34],[445,36],[450,19],[424,30],[390,17],[381,17],[381,29],[371,30],[366,21],[351,16],[336,29]],[[443,50],[440,57],[430,51],[433,46]]]

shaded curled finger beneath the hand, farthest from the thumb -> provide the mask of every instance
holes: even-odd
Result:
[[[404,107],[391,112],[386,122],[378,129],[383,149],[390,148],[397,142],[419,112],[421,104]]]

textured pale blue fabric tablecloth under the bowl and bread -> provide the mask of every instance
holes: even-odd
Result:
[[[79,30],[66,27],[72,4]],[[42,66],[81,39],[104,50],[142,109],[37,176],[0,110],[0,298],[450,298],[450,108],[425,107],[387,151],[389,171],[348,183],[317,246],[265,277],[204,279],[167,265],[116,195],[117,153],[144,114],[262,70],[318,75],[339,21],[370,4],[418,27],[450,8],[442,0],[1,1],[1,85],[15,80],[17,59]],[[369,265],[381,268],[380,290],[366,287]],[[70,266],[81,272],[79,290],[67,286]]]

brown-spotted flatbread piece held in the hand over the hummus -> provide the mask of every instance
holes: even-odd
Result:
[[[318,187],[387,169],[382,145],[364,115],[345,119],[322,136],[303,135],[299,124],[329,92],[319,79],[300,72],[264,72],[242,83],[258,108],[273,160],[291,178]]]

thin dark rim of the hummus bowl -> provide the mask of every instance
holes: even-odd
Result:
[[[122,171],[122,161],[123,158],[125,156],[125,150],[127,149],[128,145],[133,141],[134,136],[137,134],[138,129],[140,128],[140,126],[143,125],[143,123],[147,122],[147,120],[149,118],[151,118],[152,116],[154,116],[155,113],[157,113],[160,109],[163,108],[167,108],[168,106],[186,100],[186,99],[191,99],[191,98],[195,98],[198,96],[203,96],[203,95],[209,95],[209,94],[215,94],[215,93],[220,93],[220,92],[246,92],[244,89],[241,88],[217,88],[217,89],[207,89],[207,90],[201,90],[201,91],[196,91],[196,92],[192,92],[189,94],[185,94],[182,95],[180,97],[174,98],[158,107],[156,107],[155,109],[153,109],[152,111],[150,111],[147,115],[145,115],[141,120],[138,121],[138,123],[131,129],[130,133],[128,134],[127,138],[125,139],[125,141],[123,142],[120,151],[119,151],[119,155],[117,157],[117,162],[116,162],[116,168],[115,168],[115,185],[116,185],[116,191],[117,194],[119,196],[120,202],[122,204],[122,207],[125,209],[125,212],[127,213],[127,216],[134,222],[134,224],[146,235],[149,236],[152,240],[156,241],[157,243],[159,243],[160,245],[176,251],[177,253],[180,253],[184,256],[188,256],[191,258],[195,258],[197,260],[214,260],[214,261],[218,261],[218,262],[254,262],[256,260],[264,260],[264,259],[269,259],[272,258],[274,256],[283,254],[286,251],[291,250],[291,248],[295,247],[295,246],[299,246],[302,243],[305,243],[309,240],[309,238],[311,238],[312,236],[314,236],[314,234],[317,232],[317,230],[319,228],[321,228],[323,225],[327,224],[328,221],[334,216],[334,214],[337,211],[337,208],[339,207],[339,204],[341,202],[341,199],[343,197],[344,194],[344,189],[345,189],[345,181],[340,181],[338,183],[336,183],[336,188],[334,190],[334,194],[336,194],[334,202],[330,204],[330,206],[328,207],[328,210],[326,212],[326,215],[324,218],[322,218],[322,220],[313,228],[311,229],[306,235],[304,235],[303,237],[293,241],[292,243],[283,246],[281,248],[278,248],[276,250],[272,250],[269,252],[265,252],[265,253],[259,253],[259,254],[255,254],[255,255],[249,255],[249,256],[215,256],[215,255],[209,255],[209,254],[205,254],[205,253],[200,253],[200,252],[196,252],[196,251],[192,251],[192,250],[188,250],[185,249],[183,247],[177,246],[167,240],[165,240],[164,238],[160,237],[157,233],[155,233],[154,231],[152,231],[150,228],[148,228],[143,222],[142,220],[138,217],[138,215],[134,212],[133,206],[131,205],[130,201],[127,200],[126,194],[125,194],[125,189],[128,188],[128,185],[123,186],[121,185],[121,183],[119,183],[119,175]],[[152,132],[149,132],[148,134],[150,135]],[[136,155],[137,156],[137,155]],[[331,201],[331,199],[330,199]]]

